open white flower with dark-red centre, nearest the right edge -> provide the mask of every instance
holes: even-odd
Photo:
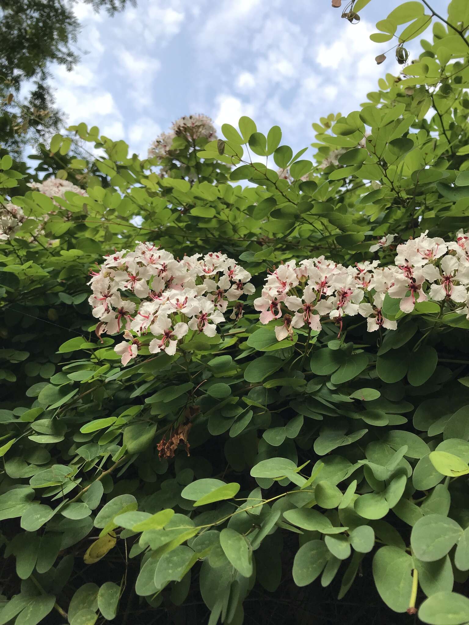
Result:
[[[441,259],[441,272],[435,265],[425,265],[423,275],[429,282],[438,282],[430,286],[430,297],[436,301],[441,301],[445,297],[450,297],[455,302],[464,302],[467,296],[467,288],[462,284],[455,285],[454,282],[469,282],[469,267],[459,269],[460,261],[456,256],[445,256]]]

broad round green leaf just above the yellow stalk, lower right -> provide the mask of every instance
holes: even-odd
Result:
[[[446,556],[462,533],[453,519],[442,514],[427,514],[413,526],[410,544],[418,559],[433,562]]]

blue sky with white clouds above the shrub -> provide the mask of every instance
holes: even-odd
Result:
[[[218,128],[248,115],[260,131],[278,124],[283,143],[306,147],[311,122],[349,113],[380,76],[398,74],[392,53],[375,63],[389,44],[370,41],[398,4],[371,0],[352,26],[330,0],[138,0],[115,17],[78,2],[81,62],[71,73],[53,68],[57,104],[70,124],[97,125],[141,156],[191,113]],[[433,6],[446,14],[446,0]]]

